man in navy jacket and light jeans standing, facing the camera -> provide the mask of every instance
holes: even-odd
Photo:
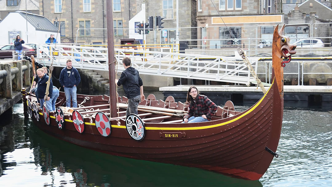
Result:
[[[73,101],[73,108],[77,107],[76,100],[76,86],[81,81],[81,76],[77,69],[71,65],[71,60],[67,60],[67,67],[63,68],[60,73],[60,84],[64,88],[64,94],[66,95],[66,106],[70,107],[70,97]]]

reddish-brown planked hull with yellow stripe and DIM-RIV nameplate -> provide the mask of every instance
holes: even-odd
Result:
[[[83,133],[75,129],[69,115],[65,116],[62,129],[58,128],[52,115],[50,125],[47,125],[41,110],[39,121],[35,117],[32,120],[49,135],[100,152],[258,180],[274,157],[265,150],[266,147],[273,152],[277,150],[283,105],[278,85],[273,81],[268,92],[244,112],[192,124],[147,122],[141,141],[129,136],[124,120],[120,120],[121,125],[111,121],[112,132],[108,137],[98,132],[94,118],[92,121],[85,118]]]

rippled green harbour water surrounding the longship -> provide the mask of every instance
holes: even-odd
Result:
[[[162,94],[157,99],[163,99]],[[235,107],[245,110],[250,105]],[[24,119],[22,104],[16,104],[13,115],[0,119],[0,186],[327,187],[332,186],[331,123],[332,105],[285,103],[279,157],[260,180],[249,181],[79,147],[40,131]]]

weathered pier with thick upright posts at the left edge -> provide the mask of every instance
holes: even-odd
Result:
[[[22,99],[20,91],[30,87],[31,69],[28,60],[0,62],[0,115]]]

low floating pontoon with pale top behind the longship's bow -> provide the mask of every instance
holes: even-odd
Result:
[[[178,85],[160,87],[164,98],[172,95],[175,100],[185,101],[188,89],[191,85]],[[232,100],[242,102],[244,100],[258,101],[263,93],[258,87],[230,86],[230,85],[195,85],[201,94],[217,100]],[[265,87],[266,90],[269,87]],[[332,86],[284,86],[285,101],[307,101],[316,104],[332,101]]]

